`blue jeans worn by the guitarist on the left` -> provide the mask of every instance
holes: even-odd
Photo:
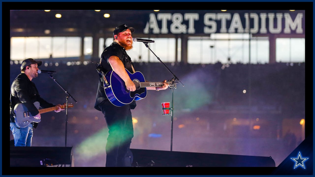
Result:
[[[10,130],[14,137],[14,146],[31,146],[33,137],[33,124],[24,128],[15,127],[15,123],[10,123]]]

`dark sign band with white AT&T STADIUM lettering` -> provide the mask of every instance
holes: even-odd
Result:
[[[304,34],[304,13],[149,14],[145,34]]]

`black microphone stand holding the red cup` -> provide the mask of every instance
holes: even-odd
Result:
[[[144,41],[143,41],[143,43],[144,43],[144,45],[146,46],[146,48],[148,48],[148,49],[154,54],[154,52],[149,48],[148,42],[144,42]],[[157,57],[156,54],[154,54],[154,55]],[[169,80],[169,81],[171,82],[171,84],[170,84],[170,85],[171,85],[171,86],[170,86],[170,89],[172,89],[172,106],[171,106],[171,108],[170,108],[170,111],[171,111],[171,151],[173,151],[174,90],[175,90],[175,88],[176,88],[176,83],[179,83],[180,80],[179,80],[178,77],[175,76],[175,74],[174,74],[171,70],[169,70],[169,68],[160,60],[159,57],[157,57],[157,60],[159,60],[159,61],[163,64],[163,66],[165,66],[165,68],[166,68],[166,69],[172,74],[172,76],[173,76],[172,80]],[[177,81],[177,82],[176,82],[176,81]],[[185,86],[182,82],[180,82],[180,83],[183,85],[183,87]]]

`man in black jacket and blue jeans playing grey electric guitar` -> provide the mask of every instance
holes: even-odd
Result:
[[[45,101],[39,95],[35,83],[32,82],[32,79],[38,76],[38,66],[40,65],[42,65],[42,61],[35,61],[31,58],[23,60],[20,67],[21,73],[11,84],[10,130],[14,137],[14,146],[31,146],[33,128],[37,128],[41,119],[39,106],[42,108],[53,107],[52,111],[55,112],[64,110],[60,104],[53,105]],[[38,103],[38,107],[34,103]],[[25,120],[22,120],[24,118]]]

